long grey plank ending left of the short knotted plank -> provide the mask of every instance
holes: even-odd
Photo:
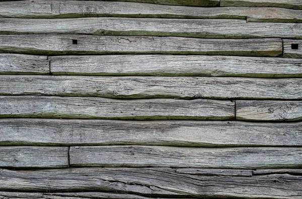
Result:
[[[234,119],[235,103],[221,100],[0,96],[0,117],[79,119]]]

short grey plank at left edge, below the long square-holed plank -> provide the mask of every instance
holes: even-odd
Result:
[[[0,74],[50,74],[47,56],[0,54]]]

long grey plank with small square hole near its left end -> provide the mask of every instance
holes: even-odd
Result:
[[[73,44],[76,41],[77,44]],[[199,39],[92,35],[0,35],[0,52],[280,56],[281,39]]]

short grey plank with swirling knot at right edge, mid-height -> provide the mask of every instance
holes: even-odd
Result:
[[[302,91],[300,91],[301,93]],[[302,101],[236,101],[238,120],[300,121]]]

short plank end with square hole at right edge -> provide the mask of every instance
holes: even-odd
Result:
[[[283,53],[284,57],[302,58],[302,40],[283,40]]]

